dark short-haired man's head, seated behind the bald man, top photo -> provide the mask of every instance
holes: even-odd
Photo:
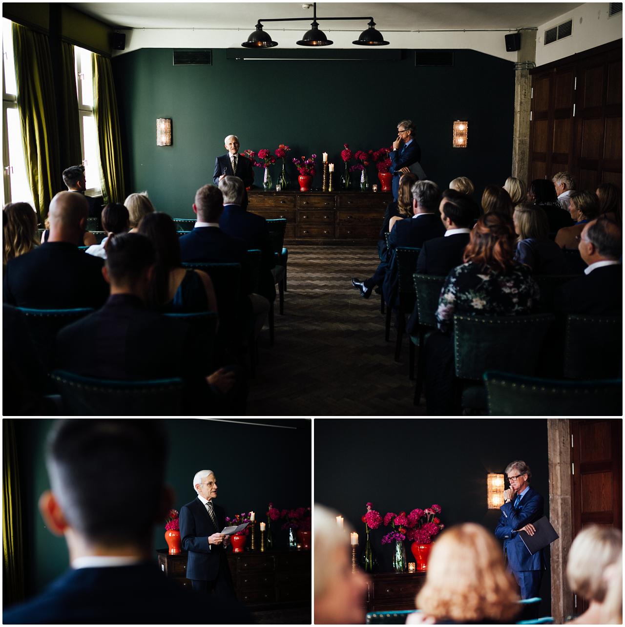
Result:
[[[148,278],[146,271],[154,265],[152,242],[140,233],[122,233],[113,237],[107,246],[106,268],[113,287],[129,287],[142,291],[139,285]]]

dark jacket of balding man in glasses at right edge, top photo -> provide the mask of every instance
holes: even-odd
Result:
[[[563,314],[621,315],[622,275],[618,263],[567,281],[555,293],[555,308]]]

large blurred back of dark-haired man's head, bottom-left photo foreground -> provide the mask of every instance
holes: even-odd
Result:
[[[48,436],[46,465],[71,529],[107,546],[151,538],[164,504],[166,455],[157,421],[56,423]]]

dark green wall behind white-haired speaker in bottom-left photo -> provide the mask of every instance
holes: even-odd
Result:
[[[195,498],[193,477],[204,468],[216,473],[219,504],[226,508],[226,514],[251,510],[257,520],[266,520],[270,501],[280,508],[311,504],[310,421],[255,422],[290,428],[165,419],[169,436],[167,482],[176,492],[176,509]],[[41,591],[69,563],[65,540],[46,529],[37,508],[39,496],[50,487],[43,451],[51,424],[51,419],[16,420],[29,596]],[[165,548],[164,533],[164,525],[155,529],[155,549]],[[281,540],[285,538],[278,533]]]

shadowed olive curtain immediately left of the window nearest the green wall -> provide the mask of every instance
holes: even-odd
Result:
[[[61,171],[63,171],[67,167],[77,166],[82,161],[74,46],[66,41],[61,41],[60,83],[59,126],[60,135],[65,138],[60,146]]]

